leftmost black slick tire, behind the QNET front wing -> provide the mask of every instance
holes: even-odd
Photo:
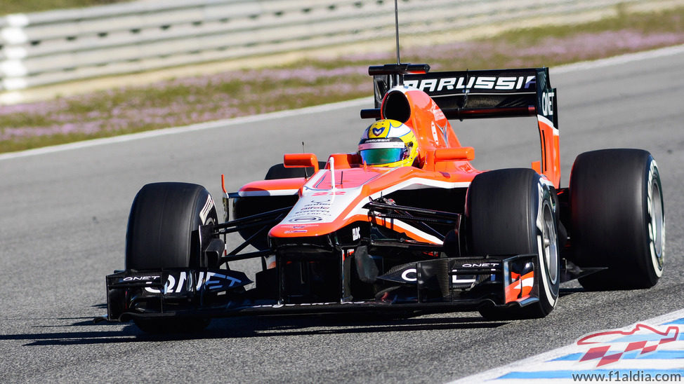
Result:
[[[206,188],[187,183],[154,183],[133,200],[126,231],[126,270],[200,268],[199,226],[216,223],[218,214]],[[134,320],[143,331],[198,331],[209,322],[195,318]]]

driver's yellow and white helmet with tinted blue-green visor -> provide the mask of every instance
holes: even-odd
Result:
[[[379,120],[364,130],[359,154],[364,163],[374,167],[409,166],[418,156],[418,140],[413,130],[400,121]]]

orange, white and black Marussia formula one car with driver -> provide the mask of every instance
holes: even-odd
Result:
[[[107,319],[168,331],[248,314],[530,318],[553,310],[567,280],[586,289],[657,283],[665,231],[655,160],[637,149],[582,153],[561,188],[548,69],[386,64],[369,74],[375,108],[361,115],[376,121],[359,151],[324,163],[284,155],[265,180],[225,194],[223,220],[202,186],[143,186],[126,268],[106,278]],[[537,116],[541,160],[475,170],[449,119],[508,116]],[[229,249],[235,232],[244,242]],[[254,277],[229,267],[250,258],[261,259]]]

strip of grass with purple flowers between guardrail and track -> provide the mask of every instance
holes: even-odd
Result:
[[[684,8],[409,47],[402,61],[435,71],[553,67],[682,43]],[[367,67],[394,60],[389,51],[344,55],[0,106],[0,152],[370,96]]]

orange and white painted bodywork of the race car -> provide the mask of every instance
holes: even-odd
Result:
[[[404,123],[414,130],[419,141],[420,167],[371,167],[363,164],[357,153],[334,153],[327,159],[325,168],[308,179],[246,184],[240,188],[239,196],[299,196],[287,217],[271,228],[270,237],[326,235],[355,221],[376,221],[376,224],[406,233],[414,240],[442,242],[401,221],[379,221],[363,208],[369,199],[404,188],[468,188],[473,178],[482,172],[469,161],[475,158],[473,148],[461,146],[447,117],[426,92],[408,87],[393,89],[393,92],[397,91],[402,92],[410,109],[410,116]],[[381,118],[386,117],[381,115]],[[539,118],[543,156],[537,167],[535,164],[533,167],[558,186],[558,130],[549,123]],[[287,154],[284,163],[286,166],[315,166],[317,158],[312,153]]]

